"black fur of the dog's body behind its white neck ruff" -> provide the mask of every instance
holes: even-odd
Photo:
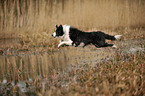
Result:
[[[83,32],[76,28],[71,27],[70,39],[73,41],[72,45],[75,44],[75,47],[80,45],[80,43],[84,43],[83,47],[85,47],[88,44],[93,44],[99,48],[99,47],[113,46],[113,44],[106,43],[105,39],[115,40],[115,37],[105,34],[102,31]]]

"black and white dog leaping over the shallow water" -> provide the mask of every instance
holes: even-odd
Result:
[[[99,47],[116,47],[113,44],[108,44],[105,42],[105,39],[109,40],[119,40],[121,39],[122,35],[115,35],[111,36],[108,34],[105,34],[102,31],[94,31],[94,32],[83,32],[81,30],[78,30],[77,28],[73,28],[70,25],[56,25],[55,32],[52,34],[52,36],[60,37],[60,43],[58,47],[62,45],[75,45],[77,47],[81,43],[83,43],[83,47],[85,47],[88,44],[93,44],[97,48]]]

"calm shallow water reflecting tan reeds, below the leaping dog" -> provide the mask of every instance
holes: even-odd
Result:
[[[52,54],[23,54],[0,56],[0,79],[19,81],[34,80],[38,76],[46,77],[54,73],[71,70],[72,66],[81,67],[84,64],[95,65],[103,58],[112,54],[102,54],[105,49],[97,51],[95,47],[65,47]],[[105,53],[113,51],[105,50]]]

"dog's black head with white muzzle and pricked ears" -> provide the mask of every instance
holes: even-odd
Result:
[[[55,37],[60,37],[63,36],[64,32],[63,32],[63,26],[62,25],[56,25],[56,29],[55,32],[52,34],[52,36]]]

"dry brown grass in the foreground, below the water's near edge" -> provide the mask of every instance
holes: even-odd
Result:
[[[114,59],[97,63],[95,67],[91,67],[89,64],[80,68],[72,66],[67,73],[54,70],[53,75],[43,75],[45,72],[43,73],[44,70],[41,70],[39,72],[42,74],[40,73],[39,77],[19,81],[20,84],[24,83],[24,86],[15,85],[10,81],[1,82],[0,94],[37,94],[43,96],[143,95],[145,94],[144,54],[144,52],[122,54],[122,50],[118,50]],[[22,91],[21,87],[27,91]]]

